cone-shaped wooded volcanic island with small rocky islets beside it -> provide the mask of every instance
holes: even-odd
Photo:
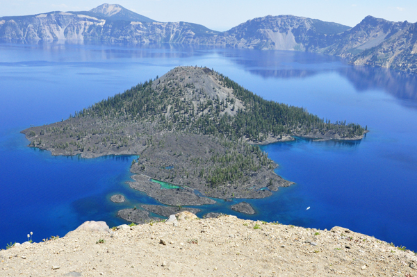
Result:
[[[261,199],[293,184],[275,174],[277,164],[258,144],[293,136],[359,140],[366,132],[358,124],[332,123],[305,108],[266,101],[206,67],[174,68],[67,120],[22,131],[29,146],[55,156],[138,155],[130,187],[171,207]],[[149,217],[142,209],[118,215],[138,222]]]

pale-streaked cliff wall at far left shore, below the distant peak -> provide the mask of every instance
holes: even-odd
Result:
[[[49,12],[0,19],[0,42],[37,43],[54,40],[98,40],[129,44],[149,42],[208,43],[217,35],[202,25],[187,22],[159,23],[114,20],[107,15],[87,12]],[[97,16],[92,16],[97,15]]]

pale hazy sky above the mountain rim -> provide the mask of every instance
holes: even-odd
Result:
[[[0,16],[90,10],[106,0],[0,0]],[[112,2],[107,2],[112,3]],[[354,26],[367,15],[417,22],[417,0],[117,0],[159,22],[193,22],[226,31],[265,15],[297,15]]]

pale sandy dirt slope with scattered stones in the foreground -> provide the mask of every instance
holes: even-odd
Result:
[[[0,251],[0,276],[417,276],[413,252],[345,228],[172,219],[118,230],[88,221]]]

